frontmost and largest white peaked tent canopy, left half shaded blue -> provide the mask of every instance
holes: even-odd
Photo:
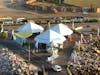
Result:
[[[42,34],[36,36],[34,40],[39,43],[49,44],[50,42],[63,43],[66,40],[66,38],[56,33],[55,31],[49,29],[43,32]]]

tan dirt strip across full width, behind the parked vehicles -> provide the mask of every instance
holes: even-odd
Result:
[[[86,17],[99,17],[100,14],[97,13],[89,13],[89,14],[82,14],[82,13],[70,13],[70,12],[59,12],[55,14],[39,14],[29,10],[19,4],[11,4],[10,0],[0,0],[0,17],[7,17],[10,16],[12,18],[18,17],[26,17],[26,18],[43,18],[43,17],[50,17],[50,16],[86,16]]]

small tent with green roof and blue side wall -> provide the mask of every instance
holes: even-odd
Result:
[[[22,31],[14,33],[13,40],[16,41],[18,44],[23,45],[27,42],[27,38],[29,38],[32,35],[31,32]]]

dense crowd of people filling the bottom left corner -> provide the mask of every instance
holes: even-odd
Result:
[[[0,49],[0,75],[34,75],[35,66],[9,51]]]

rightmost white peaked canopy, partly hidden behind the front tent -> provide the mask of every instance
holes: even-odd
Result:
[[[50,29],[63,36],[71,35],[73,33],[73,31],[70,28],[68,28],[68,26],[62,23],[56,24],[52,26]]]

